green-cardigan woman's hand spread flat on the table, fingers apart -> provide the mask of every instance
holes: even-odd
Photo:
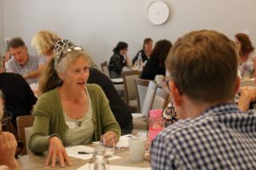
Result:
[[[71,165],[71,161],[67,156],[67,151],[65,150],[61,140],[54,136],[49,139],[49,154],[46,158],[45,165],[49,165],[49,161],[51,161],[51,167],[55,167],[56,161],[59,160],[61,163],[61,167],[65,167],[65,161],[67,161],[67,165]]]

